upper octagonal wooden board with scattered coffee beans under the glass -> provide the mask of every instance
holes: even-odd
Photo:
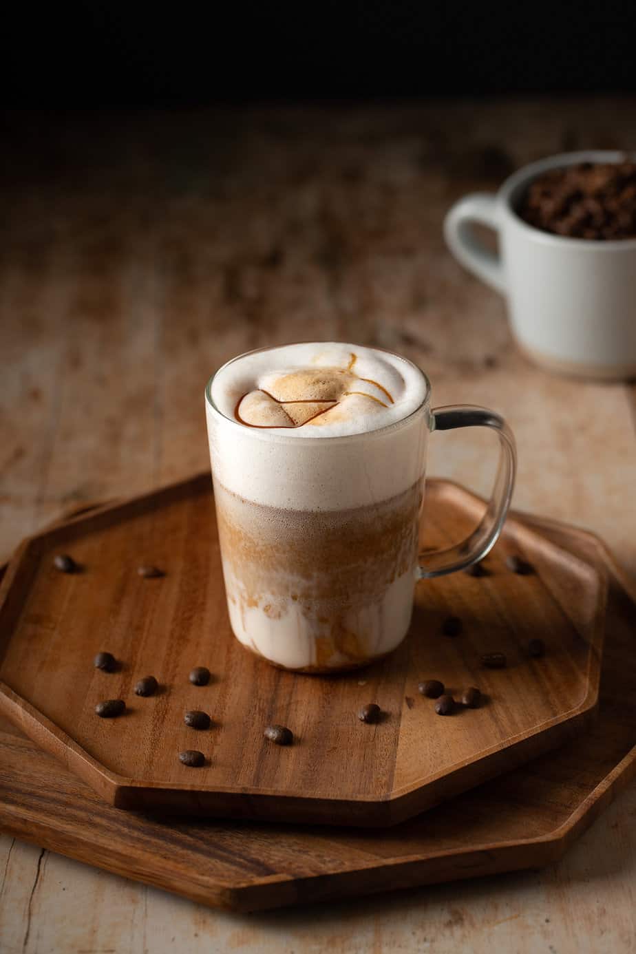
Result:
[[[482,501],[431,482],[422,546],[465,536]],[[574,532],[574,531],[572,531]],[[68,551],[82,571],[63,574],[53,554]],[[506,569],[519,553],[531,575]],[[142,579],[139,564],[165,570]],[[606,579],[598,559],[556,546],[511,518],[486,562],[417,588],[410,633],[386,660],[354,674],[280,672],[246,653],[225,608],[209,477],[83,514],[27,541],[0,594],[0,711],[61,758],[113,805],[217,817],[387,825],[554,748],[594,716],[604,633]],[[449,614],[463,633],[441,634]],[[542,636],[544,658],[531,659]],[[119,672],[92,667],[108,650]],[[508,667],[482,668],[486,652]],[[215,674],[195,687],[188,673]],[[133,695],[154,674],[161,692]],[[439,678],[456,695],[476,685],[478,710],[437,716],[417,691]],[[94,705],[122,698],[125,716],[100,719]],[[377,726],[357,713],[378,702]],[[184,725],[202,709],[213,727]],[[288,725],[289,748],[263,728]],[[178,760],[199,749],[204,768]]]

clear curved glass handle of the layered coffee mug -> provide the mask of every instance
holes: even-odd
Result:
[[[431,412],[432,430],[454,430],[455,427],[492,427],[500,440],[500,458],[495,486],[482,522],[470,536],[446,550],[426,554],[426,566],[420,564],[418,579],[445,576],[456,570],[465,570],[488,553],[502,532],[515,486],[517,450],[512,431],[499,414],[486,407],[471,404],[451,404]]]

